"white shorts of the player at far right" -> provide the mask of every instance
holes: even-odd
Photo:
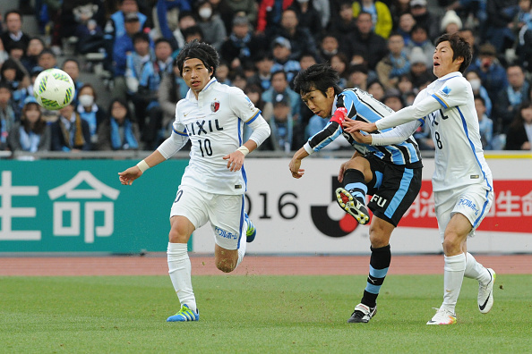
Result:
[[[492,203],[493,190],[486,190],[478,184],[471,184],[460,190],[434,192],[434,209],[442,242],[447,224],[456,213],[468,218],[472,227],[468,236],[475,236],[476,228],[488,214]]]

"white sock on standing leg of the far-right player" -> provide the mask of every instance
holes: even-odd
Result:
[[[454,313],[456,301],[458,300],[464,272],[466,270],[466,255],[460,253],[457,256],[443,256],[445,265],[443,266],[443,304],[442,308],[447,308]]]

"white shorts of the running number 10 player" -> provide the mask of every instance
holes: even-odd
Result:
[[[179,186],[170,217],[184,216],[197,230],[208,221],[214,241],[223,249],[239,249],[244,225],[244,195],[212,194]],[[245,242],[245,239],[244,239]]]

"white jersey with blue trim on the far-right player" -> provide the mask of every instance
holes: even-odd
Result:
[[[492,172],[485,162],[468,80],[460,72],[451,72],[423,89],[414,106],[426,97],[433,97],[441,105],[441,109],[425,116],[435,146],[433,190],[452,190],[476,183],[492,190]]]

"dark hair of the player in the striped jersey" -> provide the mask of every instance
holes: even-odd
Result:
[[[327,96],[327,89],[334,89],[334,94],[339,95],[339,73],[332,69],[328,63],[317,63],[299,72],[294,80],[294,90],[300,95],[317,89]]]

